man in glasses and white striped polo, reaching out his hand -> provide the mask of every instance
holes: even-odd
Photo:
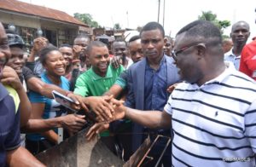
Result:
[[[186,81],[164,112],[143,112],[116,101],[115,118],[150,128],[169,128],[173,166],[255,166],[256,84],[224,65],[218,27],[205,20],[184,26],[172,57]]]

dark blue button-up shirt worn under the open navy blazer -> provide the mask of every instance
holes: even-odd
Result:
[[[163,56],[156,71],[146,64],[144,82],[144,110],[163,111],[168,100],[166,58]]]

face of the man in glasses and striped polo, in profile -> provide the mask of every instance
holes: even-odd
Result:
[[[184,34],[180,34],[173,47],[172,57],[179,68],[178,73],[189,83],[198,83],[203,78],[197,49],[199,46],[205,47],[205,44],[193,43],[191,40],[186,40]]]

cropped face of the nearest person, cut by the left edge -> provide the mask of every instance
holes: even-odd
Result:
[[[10,56],[8,38],[0,22],[0,74],[2,74],[3,66],[7,63]]]

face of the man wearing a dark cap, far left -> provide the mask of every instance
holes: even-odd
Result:
[[[23,58],[24,51],[19,47],[10,47],[11,57],[7,62],[7,66],[12,67],[19,76],[22,75],[22,67],[25,64]]]

